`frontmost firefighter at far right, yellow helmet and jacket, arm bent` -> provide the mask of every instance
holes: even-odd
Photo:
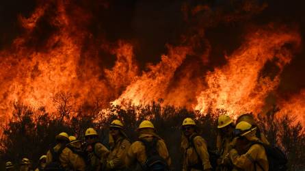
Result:
[[[248,148],[246,153],[239,155],[237,150],[233,148],[230,150],[229,156],[233,165],[245,171],[266,171],[269,170],[267,155],[265,153],[265,148],[262,144],[257,144],[253,142],[260,142],[258,137],[256,137],[257,127],[252,127],[246,121],[241,121],[236,125],[235,132],[239,132],[237,143],[239,146],[244,146]]]

